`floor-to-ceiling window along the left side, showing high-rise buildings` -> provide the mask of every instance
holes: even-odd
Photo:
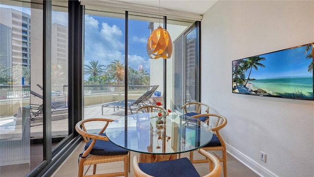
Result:
[[[73,138],[68,16],[68,1],[0,1],[1,177],[51,173]]]

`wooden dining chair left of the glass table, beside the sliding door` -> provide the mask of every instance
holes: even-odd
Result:
[[[111,119],[105,118],[91,118],[81,120],[76,124],[76,131],[82,135],[86,143],[83,153],[81,153],[78,158],[78,177],[83,177],[86,175],[87,171],[83,175],[84,166],[86,165],[93,165],[94,169],[92,176],[106,175],[128,177],[128,171],[130,172],[130,152],[113,144],[108,140],[104,133],[108,124],[112,121],[113,120]],[[91,129],[88,129],[89,127],[93,127],[94,130],[99,128],[101,131],[99,133],[91,133],[92,131]],[[124,162],[124,172],[95,175],[97,164],[115,161]]]

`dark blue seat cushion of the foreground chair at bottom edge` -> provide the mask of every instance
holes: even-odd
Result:
[[[139,168],[153,177],[200,177],[186,157],[151,163],[138,163]]]

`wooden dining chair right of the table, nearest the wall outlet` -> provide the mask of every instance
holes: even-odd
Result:
[[[223,170],[224,170],[224,177],[227,177],[227,149],[226,144],[223,138],[221,137],[219,131],[220,129],[224,128],[227,125],[227,119],[226,117],[219,115],[219,114],[213,114],[213,113],[204,113],[204,114],[198,114],[194,115],[192,117],[198,118],[206,116],[209,117],[209,124],[211,125],[211,131],[213,132],[212,138],[208,144],[203,146],[201,149],[205,151],[211,151],[220,162],[223,163]],[[218,155],[215,151],[221,151],[222,156]],[[192,163],[206,163],[208,160],[206,159],[200,159],[200,160],[194,160],[193,159],[193,151],[190,152],[190,161]]]

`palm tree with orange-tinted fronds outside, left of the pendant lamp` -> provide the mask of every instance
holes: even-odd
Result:
[[[106,72],[116,79],[116,84],[120,84],[124,78],[124,64],[119,60],[114,60],[106,67]]]

